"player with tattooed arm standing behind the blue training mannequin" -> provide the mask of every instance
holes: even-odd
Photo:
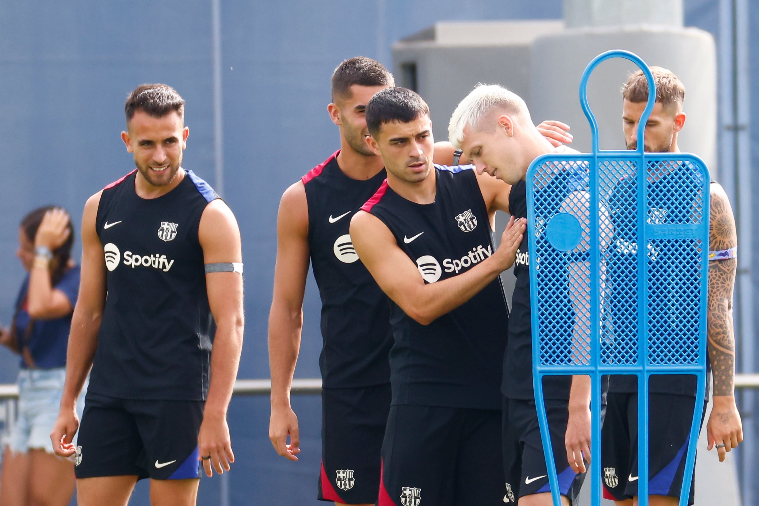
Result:
[[[682,104],[685,86],[664,68],[653,67],[657,85],[657,102],[651,112],[645,130],[644,149],[647,152],[679,152],[678,133],[685,125]],[[622,89],[622,126],[628,149],[638,146],[638,122],[648,99],[647,81],[642,71],[631,74]],[[692,177],[679,166],[672,174],[662,178],[685,181]],[[658,181],[650,185],[655,192]],[[625,181],[620,181],[625,184]],[[685,186],[685,185],[684,185]],[[654,195],[655,197],[655,195]],[[677,217],[677,209],[669,209],[668,203],[656,203],[667,222],[683,222],[687,217]],[[612,206],[614,207],[614,206]],[[623,216],[615,217],[617,220]],[[653,216],[650,219],[657,219]],[[624,240],[625,237],[620,237]],[[707,314],[707,344],[709,362],[713,375],[713,410],[707,423],[709,449],[715,445],[720,461],[727,451],[742,441],[741,416],[735,407],[733,374],[735,340],[732,334],[732,318],[729,315],[732,288],[735,284],[735,247],[737,236],[732,209],[725,190],[712,181],[710,184],[710,261]],[[619,248],[613,250],[617,257],[625,256]],[[660,322],[666,325],[666,322]],[[605,480],[606,497],[617,504],[629,504],[638,495],[638,385],[629,376],[612,376],[609,383],[608,407],[603,424],[601,465],[614,470],[616,482]],[[632,377],[634,378],[634,377]],[[693,376],[652,376],[649,391],[649,494],[651,506],[674,506],[678,504],[682,489],[685,445],[691,431],[696,382]],[[632,479],[631,479],[632,478]],[[691,482],[689,504],[694,503],[694,482]]]

